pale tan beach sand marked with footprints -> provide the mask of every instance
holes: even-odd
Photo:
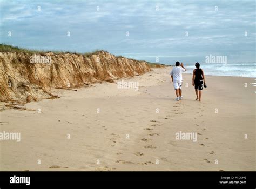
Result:
[[[0,170],[255,171],[254,78],[206,76],[198,102],[184,74],[176,102],[170,70],[124,79],[138,91],[104,82],[1,111],[1,132],[21,141],[0,141]],[[180,131],[197,141],[176,140]]]

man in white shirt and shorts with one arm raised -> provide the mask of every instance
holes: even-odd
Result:
[[[174,90],[175,90],[175,93],[177,96],[176,100],[181,100],[183,98],[182,90],[181,90],[181,85],[182,85],[182,73],[181,72],[185,72],[186,69],[184,68],[182,62],[181,62],[181,64],[179,62],[176,62],[175,65],[176,66],[172,69],[170,75],[171,75]]]

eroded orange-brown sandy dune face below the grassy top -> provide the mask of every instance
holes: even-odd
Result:
[[[0,61],[0,101],[56,98],[50,93],[52,87],[82,87],[150,71],[144,61],[118,58],[105,51],[90,56],[0,52]]]

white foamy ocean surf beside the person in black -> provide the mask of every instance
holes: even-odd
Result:
[[[196,68],[194,64],[184,66],[188,73],[193,73],[193,69]],[[255,66],[256,63],[200,63],[205,75],[212,76],[256,77]]]

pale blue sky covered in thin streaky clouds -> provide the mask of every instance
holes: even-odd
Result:
[[[0,0],[0,43],[164,64],[255,62],[255,1]]]

